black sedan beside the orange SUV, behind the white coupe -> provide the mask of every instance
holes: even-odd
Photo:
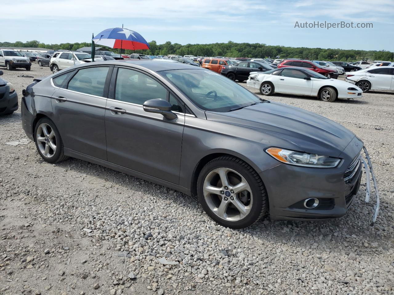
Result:
[[[273,68],[271,66],[265,63],[259,63],[257,61],[241,61],[240,63],[224,66],[220,74],[233,81],[238,80],[242,82],[247,80],[250,72],[265,72],[272,69]]]

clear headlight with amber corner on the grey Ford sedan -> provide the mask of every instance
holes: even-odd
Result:
[[[269,147],[265,150],[268,155],[278,161],[290,165],[314,167],[314,168],[334,168],[338,166],[341,159],[321,156],[299,151],[290,151],[279,147]]]

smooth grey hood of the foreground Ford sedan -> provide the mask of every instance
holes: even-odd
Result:
[[[231,112],[205,113],[208,120],[260,131],[264,147],[338,157],[355,137],[350,130],[323,116],[276,102]]]

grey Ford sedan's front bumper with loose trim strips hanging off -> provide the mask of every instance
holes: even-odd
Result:
[[[356,141],[362,146],[361,141]],[[351,147],[350,147],[351,148]],[[355,150],[354,147],[353,151]],[[364,150],[366,160],[360,153]],[[325,220],[339,218],[346,214],[353,204],[362,180],[362,170],[366,171],[366,199],[369,202],[370,175],[375,188],[376,205],[370,224],[373,225],[379,211],[379,191],[372,164],[366,151],[358,149],[352,153],[352,160],[344,159],[337,168],[305,168],[287,164],[279,164],[260,173],[266,185],[269,197],[269,214],[272,219],[290,220]],[[358,158],[357,158],[358,157]],[[345,172],[351,162],[357,162],[354,176],[345,181]],[[316,198],[319,205],[313,209],[306,208],[306,199]]]

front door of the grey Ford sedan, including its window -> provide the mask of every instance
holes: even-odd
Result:
[[[185,115],[167,120],[162,114],[145,112],[142,104],[152,98],[168,99],[168,90],[151,76],[126,68],[113,74],[105,110],[107,158],[178,184]],[[117,113],[113,108],[125,112]]]

